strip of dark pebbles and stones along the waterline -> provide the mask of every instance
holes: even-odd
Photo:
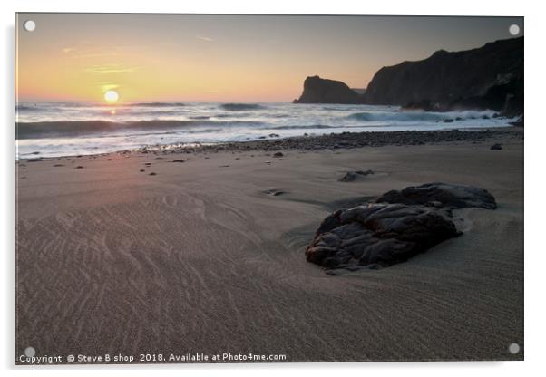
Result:
[[[141,151],[153,153],[193,153],[219,151],[250,150],[340,150],[363,147],[383,147],[387,145],[424,145],[443,142],[482,143],[493,138],[523,139],[523,129],[507,127],[477,131],[387,131],[387,132],[343,132],[319,136],[300,136],[284,139],[257,141],[239,141],[225,144],[198,146],[158,146],[154,149],[144,148]]]

